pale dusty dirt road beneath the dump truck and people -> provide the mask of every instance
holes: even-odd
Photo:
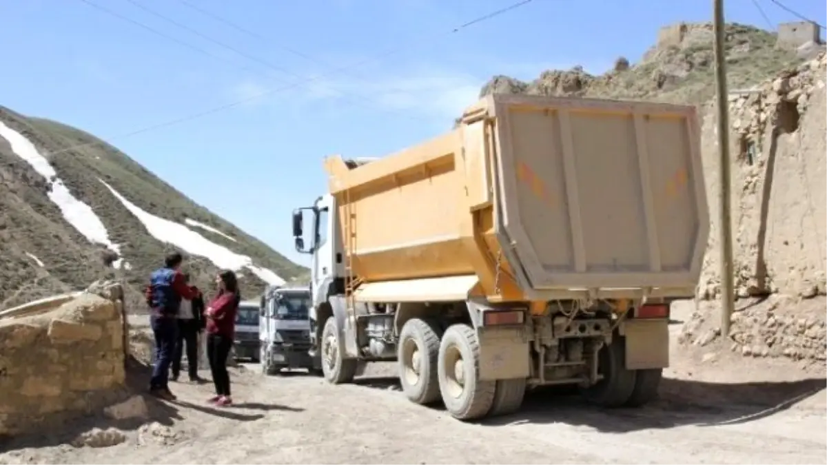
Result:
[[[827,381],[767,361],[724,354],[700,365],[696,356],[673,352],[661,400],[640,410],[598,410],[546,391],[530,395],[520,413],[482,424],[409,403],[386,377],[392,366],[370,367],[356,385],[329,386],[304,375],[261,376],[248,365],[233,372],[231,409],[204,403],[209,385],[174,385],[180,400],[150,402],[150,421],[159,424],[124,429],[125,443],[41,444],[0,455],[0,463],[827,464]],[[733,380],[769,373],[791,381]]]

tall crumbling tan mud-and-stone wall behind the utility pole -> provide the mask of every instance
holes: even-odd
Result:
[[[730,97],[736,291],[827,295],[827,54]],[[699,297],[720,290],[715,108],[702,153],[712,228]]]

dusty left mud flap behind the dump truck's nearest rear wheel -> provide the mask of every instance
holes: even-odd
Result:
[[[530,375],[528,340],[524,329],[479,327],[480,380],[495,381],[528,378]]]

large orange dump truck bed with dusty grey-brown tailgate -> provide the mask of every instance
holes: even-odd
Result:
[[[527,295],[684,295],[709,235],[699,142],[690,106],[493,95],[454,132],[328,170],[342,218],[356,218],[343,228],[368,281],[481,279],[482,261],[502,256]],[[474,247],[480,237],[490,250]]]

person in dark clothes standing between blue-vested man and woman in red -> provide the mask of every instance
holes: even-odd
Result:
[[[189,285],[189,275],[184,273],[184,280]],[[200,291],[194,285],[190,290],[198,292],[193,300],[181,300],[178,310],[178,338],[175,339],[175,350],[172,356],[172,381],[178,381],[181,373],[181,358],[184,357],[184,345],[187,347],[187,372],[189,381],[198,383],[198,333],[206,322],[204,321],[204,301]]]

